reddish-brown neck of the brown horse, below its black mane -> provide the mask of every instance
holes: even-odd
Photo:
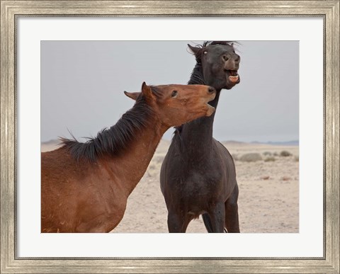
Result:
[[[103,160],[106,161],[104,164],[115,173],[115,177],[118,180],[120,178],[122,188],[127,195],[130,195],[145,174],[159,141],[168,130],[168,127],[162,125],[156,117],[150,118],[149,126],[140,130],[139,137],[130,142],[128,149]]]

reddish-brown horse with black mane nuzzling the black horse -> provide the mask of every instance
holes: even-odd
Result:
[[[110,232],[164,132],[215,112],[210,86],[143,83],[125,95],[136,102],[115,125],[41,154],[41,232]]]

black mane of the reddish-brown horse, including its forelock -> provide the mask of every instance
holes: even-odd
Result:
[[[152,93],[159,96],[159,90],[150,86]],[[85,159],[95,162],[104,155],[119,154],[129,147],[129,144],[139,137],[142,129],[149,126],[150,119],[154,115],[154,110],[145,101],[145,96],[140,94],[135,105],[122,115],[120,120],[110,128],[104,128],[98,132],[96,137],[86,138],[86,142],[78,142],[72,139],[60,137],[62,147],[79,161]]]

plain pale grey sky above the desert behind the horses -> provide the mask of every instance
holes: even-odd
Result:
[[[123,91],[186,84],[203,41],[41,41],[41,142],[95,137],[134,101]],[[213,135],[220,141],[299,139],[298,41],[239,41],[241,82],[221,91]],[[169,129],[164,139],[171,139]]]

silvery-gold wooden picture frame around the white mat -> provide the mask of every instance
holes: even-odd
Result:
[[[303,16],[324,19],[323,258],[18,258],[16,18],[18,16]],[[2,1],[1,273],[339,273],[339,0]]]

